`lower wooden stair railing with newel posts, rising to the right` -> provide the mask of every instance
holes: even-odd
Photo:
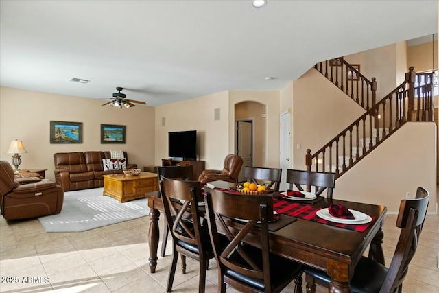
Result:
[[[333,172],[339,178],[405,122],[433,121],[432,82],[431,73],[416,73],[410,67],[404,82],[353,124],[314,154],[307,149],[307,170]]]

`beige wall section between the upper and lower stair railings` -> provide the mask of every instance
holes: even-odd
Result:
[[[294,169],[306,169],[308,148],[316,152],[364,112],[316,69],[294,80]]]

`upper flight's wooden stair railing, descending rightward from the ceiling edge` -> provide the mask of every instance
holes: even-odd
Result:
[[[375,105],[376,78],[368,80],[343,57],[318,62],[314,68],[365,110]]]

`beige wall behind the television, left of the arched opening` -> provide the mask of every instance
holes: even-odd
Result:
[[[219,120],[214,119],[219,109]],[[165,126],[162,119],[165,118]],[[156,107],[155,164],[168,157],[168,132],[197,130],[198,159],[206,161],[206,169],[222,169],[229,150],[228,91]],[[233,152],[233,150],[232,150]]]

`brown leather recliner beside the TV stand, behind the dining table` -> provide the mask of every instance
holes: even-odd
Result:
[[[207,169],[200,174],[198,181],[207,183],[216,180],[237,183],[239,172],[242,167],[242,158],[236,154],[228,154],[224,159],[224,168],[222,170]]]

